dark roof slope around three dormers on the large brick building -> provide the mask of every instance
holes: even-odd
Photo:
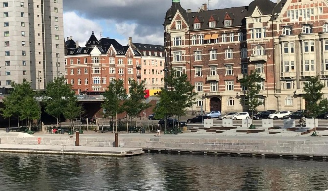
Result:
[[[216,27],[224,27],[224,16],[226,13],[229,13],[229,16],[232,17],[233,23],[232,26],[241,26],[246,24],[245,17],[248,14],[248,6],[242,7],[232,7],[226,9],[217,9],[217,10],[210,10],[210,11],[200,11],[200,12],[191,12],[188,13],[189,21],[194,21],[195,17],[202,17],[204,19],[204,24],[202,24],[201,29],[209,28],[208,21],[210,20],[212,15],[216,15],[214,18],[218,19],[218,24]],[[190,27],[193,29],[193,23],[189,24]]]

